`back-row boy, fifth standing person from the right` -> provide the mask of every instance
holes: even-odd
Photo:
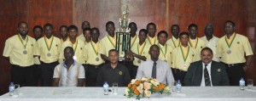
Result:
[[[166,44],[170,45],[172,48],[177,48],[179,47],[179,39],[178,39],[178,33],[179,33],[179,25],[172,25],[171,27],[171,33],[172,33],[172,38],[170,38]]]

